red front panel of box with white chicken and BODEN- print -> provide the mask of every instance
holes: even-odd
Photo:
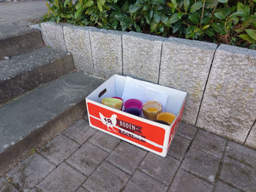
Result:
[[[92,126],[102,128],[124,139],[162,153],[165,129],[149,123],[107,110],[96,104],[87,103]],[[146,140],[145,140],[146,139]]]

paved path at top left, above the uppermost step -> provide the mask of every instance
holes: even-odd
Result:
[[[45,13],[45,1],[0,2],[0,27],[30,26]]]

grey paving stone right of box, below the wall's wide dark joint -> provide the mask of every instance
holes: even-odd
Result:
[[[207,131],[199,130],[192,143],[193,147],[213,155],[216,158],[222,158],[222,153],[225,150],[226,139],[218,137]]]

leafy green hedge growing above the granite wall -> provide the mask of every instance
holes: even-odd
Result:
[[[47,0],[44,20],[256,47],[256,0]]]

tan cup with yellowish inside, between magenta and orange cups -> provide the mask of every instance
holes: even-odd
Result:
[[[149,120],[157,120],[160,112],[162,112],[162,105],[157,101],[147,101],[143,104],[143,114]]]

